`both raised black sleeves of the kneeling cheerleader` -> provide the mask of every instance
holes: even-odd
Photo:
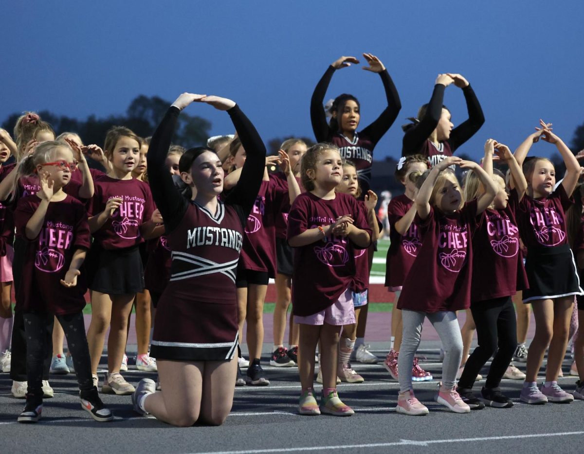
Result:
[[[180,110],[171,106],[157,130],[152,135],[148,148],[148,180],[152,190],[152,197],[164,219],[165,232],[168,234],[180,223],[191,201],[179,194],[173,183],[172,176],[164,165],[168,148],[176,128]],[[266,147],[258,131],[248,117],[234,106],[227,111],[235,126],[241,144],[245,148],[247,158],[237,186],[225,198],[225,205],[232,205],[241,219],[242,226],[248,218],[249,212],[258,195],[262,184],[263,171],[266,160]]]

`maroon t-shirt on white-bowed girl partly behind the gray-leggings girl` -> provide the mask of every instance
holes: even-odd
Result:
[[[390,224],[390,248],[387,250],[385,267],[385,287],[397,290],[404,285],[405,277],[412,267],[413,261],[418,256],[422,246],[422,233],[416,223],[416,218],[405,235],[399,235],[395,229],[395,223],[403,218],[412,208],[413,200],[402,194],[393,197],[387,206],[387,221]],[[419,219],[418,219],[419,221]]]

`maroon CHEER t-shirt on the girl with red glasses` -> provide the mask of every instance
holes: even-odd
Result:
[[[50,202],[39,236],[29,240],[26,224],[40,202],[36,195],[23,197],[14,213],[16,230],[26,245],[17,309],[57,315],[81,312],[87,291],[84,270],[80,270],[75,287],[64,287],[60,280],[65,278],[75,250],[89,249],[85,207],[71,195],[61,202]]]

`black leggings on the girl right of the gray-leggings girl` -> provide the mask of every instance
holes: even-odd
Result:
[[[496,352],[485,383],[487,388],[496,388],[517,348],[515,308],[511,297],[504,296],[471,303],[471,312],[477,326],[478,347],[468,357],[458,387],[472,388],[482,366]]]

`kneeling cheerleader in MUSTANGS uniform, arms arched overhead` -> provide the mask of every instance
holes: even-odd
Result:
[[[180,177],[193,189],[190,199],[178,193],[164,167],[179,113],[193,102],[226,110],[247,153],[239,182],[224,201],[217,198],[224,172],[213,150],[191,148],[180,157]],[[223,424],[231,411],[238,347],[235,271],[265,156],[262,139],[239,106],[217,96],[183,93],[152,136],[148,176],[172,266],[158,302],[151,350],[162,390],[141,380],[132,399],[140,414],[186,427]]]

